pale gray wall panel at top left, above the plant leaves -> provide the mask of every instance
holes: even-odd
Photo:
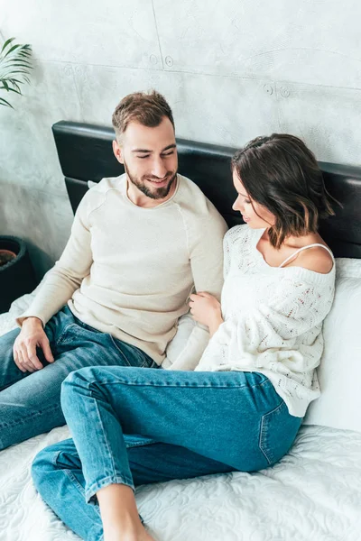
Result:
[[[162,68],[152,0],[2,0],[0,28],[39,60]]]

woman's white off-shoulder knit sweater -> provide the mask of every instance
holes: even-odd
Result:
[[[271,267],[256,249],[262,234],[264,229],[239,225],[225,236],[224,323],[196,370],[263,373],[290,413],[303,417],[319,397],[315,368],[334,297],[335,264],[328,274]]]

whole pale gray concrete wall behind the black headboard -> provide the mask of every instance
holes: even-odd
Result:
[[[35,69],[0,107],[0,234],[28,241],[39,276],[51,266],[72,220],[51,124],[110,125],[135,90],[167,97],[180,137],[289,132],[359,164],[360,16],[356,0],[1,0],[2,38],[32,43]]]

